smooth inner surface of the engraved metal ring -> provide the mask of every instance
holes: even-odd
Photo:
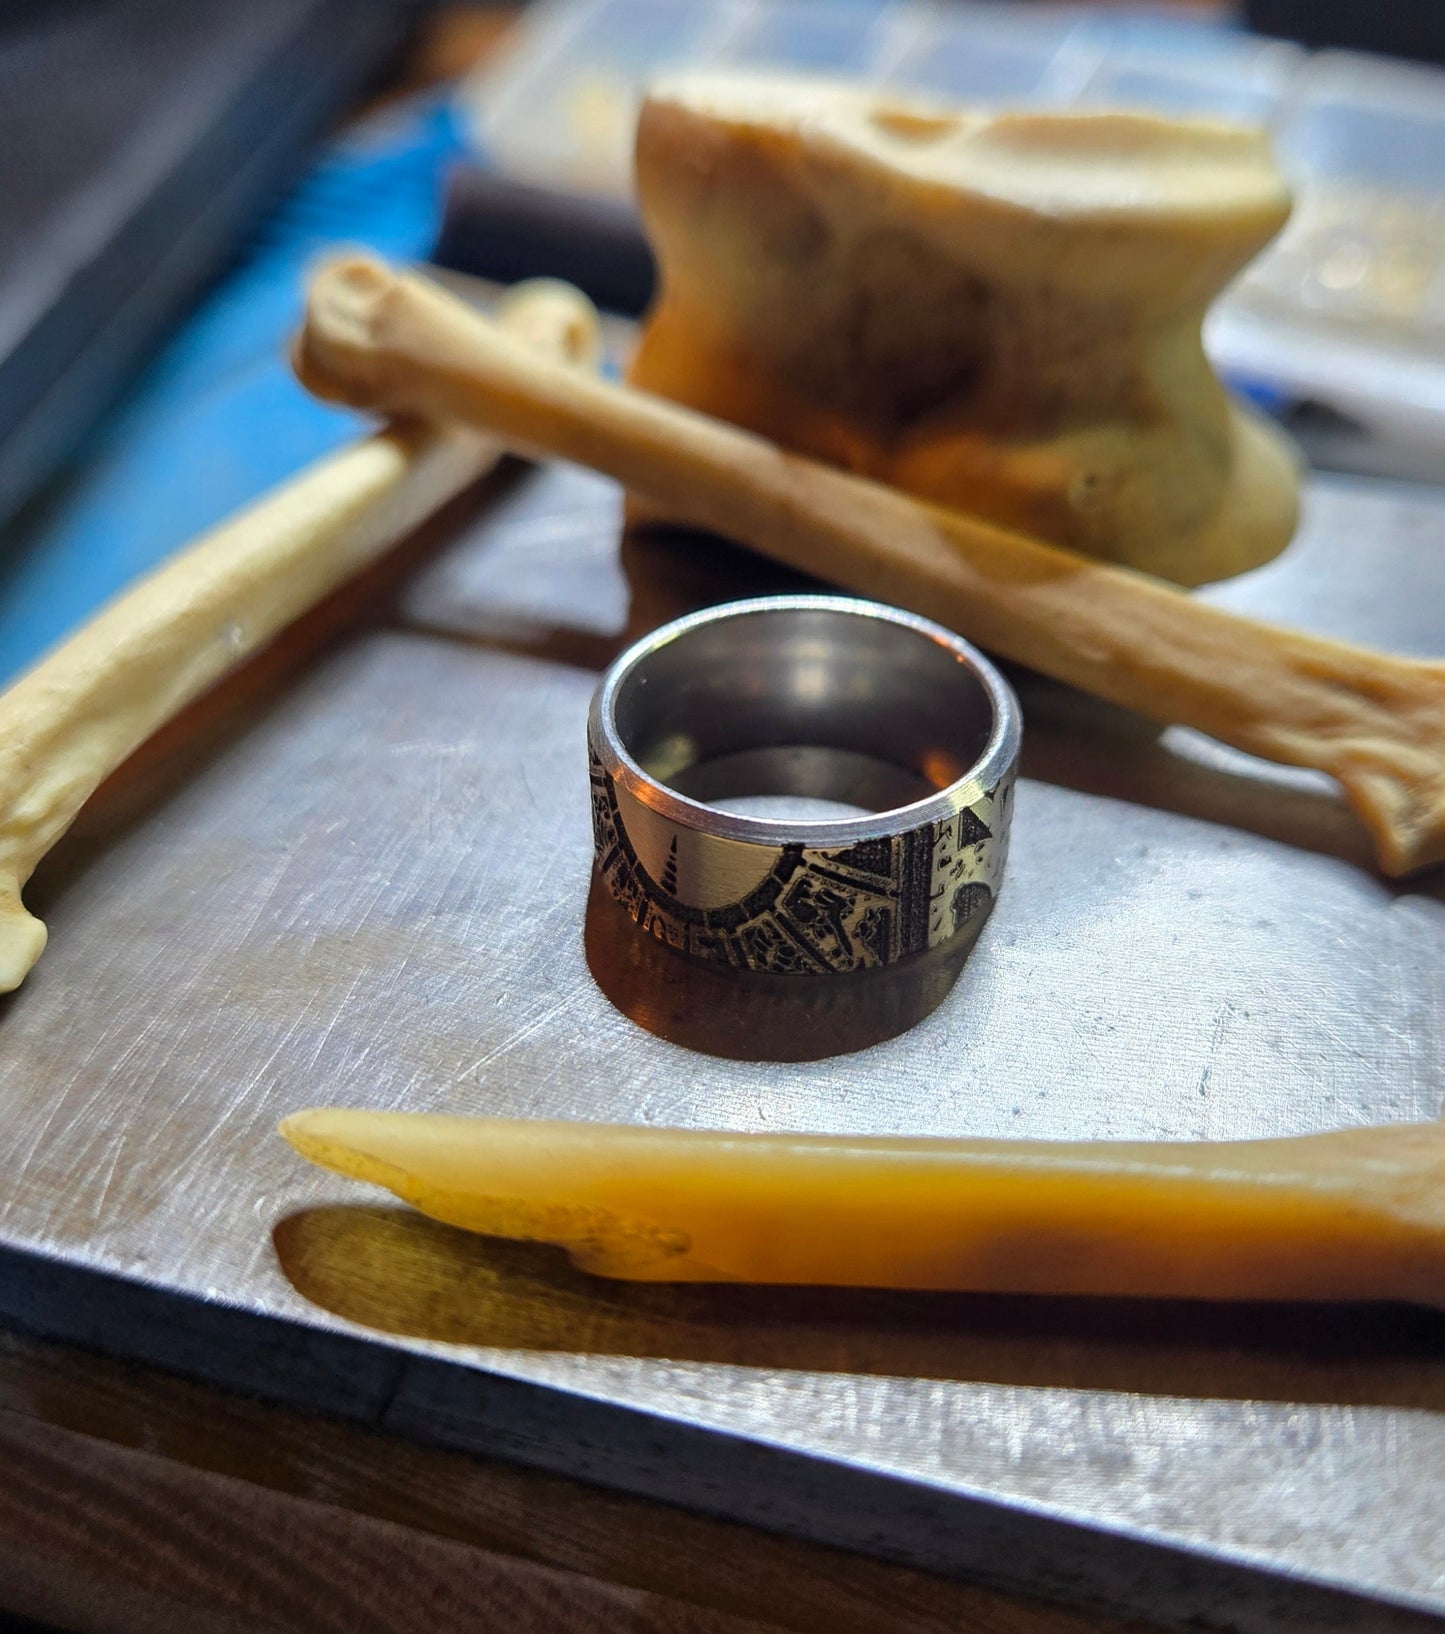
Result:
[[[884,812],[982,758],[987,690],[964,659],[889,619],[822,608],[700,624],[618,688],[628,753],[688,799],[773,820]]]

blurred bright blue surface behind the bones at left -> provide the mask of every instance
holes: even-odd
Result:
[[[436,96],[332,144],[67,474],[0,533],[0,685],[193,534],[356,431],[286,364],[309,265],[425,257],[461,154]]]

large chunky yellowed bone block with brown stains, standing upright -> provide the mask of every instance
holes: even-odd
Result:
[[[1290,211],[1260,132],[693,74],[642,106],[638,196],[633,384],[1187,585],[1288,542],[1295,456],[1200,340]]]

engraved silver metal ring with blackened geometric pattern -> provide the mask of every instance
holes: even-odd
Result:
[[[1020,732],[1007,681],[928,619],[811,595],[695,613],[624,652],[592,699],[598,869],[695,958],[892,964],[992,907]],[[778,797],[825,806],[780,817]]]

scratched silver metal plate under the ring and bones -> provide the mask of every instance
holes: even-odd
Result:
[[[641,946],[590,892],[588,694],[638,631],[780,580],[618,533],[598,479],[503,485],[87,814],[0,1010],[11,1268],[209,1301],[224,1353],[183,1366],[247,1382],[286,1332],[271,1394],[332,1368],[319,1405],[404,1433],[1045,1593],[1208,1627],[1445,1613],[1445,1319],[628,1289],[273,1134],[315,1103],[1161,1139],[1442,1113],[1440,879],[1385,884],[1321,779],[1027,676],[1010,873],[961,974],[781,1000]],[[1445,654],[1445,498],[1321,480],[1286,557],[1211,596]],[[5,1286],[11,1319],[180,1355],[154,1296],[128,1327],[114,1289]],[[332,1366],[327,1333],[374,1343]]]

